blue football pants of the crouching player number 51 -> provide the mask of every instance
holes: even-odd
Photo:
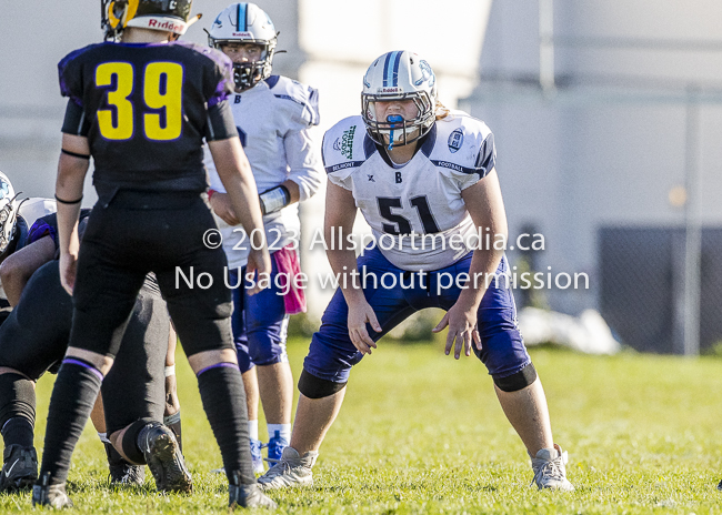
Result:
[[[363,293],[382,329],[377,333],[367,324],[371,339],[378,341],[412,313],[425,307],[441,307],[448,311],[461,293],[453,280],[461,273],[469,273],[471,255],[470,252],[451,266],[427,272],[420,281],[418,273],[394,266],[378,249],[365,251],[364,255],[358,259],[361,273],[358,281],[363,284],[363,275],[367,274]],[[497,274],[507,274],[508,270],[509,264],[504,256]],[[385,281],[382,277],[384,274]],[[379,280],[378,284],[374,284],[372,275]],[[392,276],[395,276],[395,286],[384,287],[392,284]],[[453,284],[449,284],[451,282]],[[491,282],[477,316],[482,350],[478,351],[473,344],[472,349],[487,365],[490,375],[494,378],[509,377],[531,363],[517,326],[513,294],[503,277],[499,284]],[[362,357],[363,354],[353,346],[349,337],[348,306],[339,289],[323,313],[321,329],[313,334],[303,368],[315,377],[345,383],[349,381],[351,367]]]

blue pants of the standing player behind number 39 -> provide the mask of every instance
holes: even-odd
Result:
[[[238,364],[241,373],[250,371],[253,365],[272,365],[288,363],[285,339],[288,316],[283,304],[283,295],[277,285],[278,265],[271,256],[271,287],[261,290],[255,295],[249,295],[244,285],[239,285],[233,292],[233,343],[238,353]],[[245,267],[241,269],[245,275]],[[239,284],[238,271],[229,271],[229,284]]]

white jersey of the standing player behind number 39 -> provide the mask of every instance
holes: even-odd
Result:
[[[271,75],[250,90],[230,95],[229,103],[259,193],[290,179],[299,185],[301,202],[312,196],[323,176],[309,132],[319,123],[317,90],[285,77]],[[225,192],[208,149],[205,166],[210,188]],[[242,226],[230,226],[218,216],[215,222],[223,235],[229,266],[244,266],[250,243]],[[271,253],[292,240],[298,241],[301,231],[298,204],[267,214],[263,224]]]

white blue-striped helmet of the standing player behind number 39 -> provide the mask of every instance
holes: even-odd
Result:
[[[247,90],[271,75],[278,32],[269,16],[255,3],[232,3],[215,18],[208,44],[220,48],[224,43],[253,43],[262,47],[259,61],[233,63],[233,80],[240,90]]]

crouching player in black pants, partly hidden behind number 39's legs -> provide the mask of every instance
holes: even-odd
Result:
[[[84,220],[87,214],[81,218]],[[34,383],[43,373],[57,372],[68,350],[72,300],[60,284],[58,262],[53,261],[56,248],[56,215],[51,214],[33,224],[28,244],[11,258],[17,258],[13,261],[20,263],[18,266],[24,266],[24,271],[36,264],[39,270],[31,273],[20,302],[0,325],[0,426],[6,448],[0,474],[1,492],[22,489],[38,479],[33,447]],[[11,259],[3,262],[0,271]],[[106,446],[112,483],[141,485],[144,477],[144,468],[131,464],[131,461],[146,463],[144,447],[139,448],[130,438],[124,441],[121,432],[142,418],[160,422],[164,420],[164,413],[179,413],[174,385],[168,392],[173,400],[172,413],[168,412],[167,405],[164,364],[171,333],[174,339],[166,302],[151,274],[136,301],[114,366],[103,381],[102,397],[107,410],[103,411],[100,396],[97,410],[93,410],[93,425]],[[123,455],[116,451],[111,440]],[[149,457],[158,488],[172,489],[168,485],[170,477],[159,475],[158,464],[152,456]],[[178,463],[183,465],[182,458]],[[189,488],[191,479],[184,465],[177,473],[187,476],[182,486]]]

